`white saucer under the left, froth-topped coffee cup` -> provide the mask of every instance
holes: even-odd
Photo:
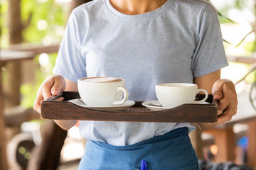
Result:
[[[126,101],[122,105],[112,105],[112,106],[87,106],[80,98],[70,100],[68,102],[74,103],[75,105],[84,107],[84,108],[91,108],[97,111],[123,111],[126,108],[129,108],[135,104],[134,101]]]

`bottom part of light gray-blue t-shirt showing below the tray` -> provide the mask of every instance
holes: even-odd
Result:
[[[115,146],[133,145],[178,128],[195,130],[191,123],[137,123],[80,121],[80,135],[87,140],[105,142]]]

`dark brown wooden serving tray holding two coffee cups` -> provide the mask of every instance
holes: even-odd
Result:
[[[55,101],[59,97],[64,100]],[[42,101],[41,118],[157,123],[215,123],[218,118],[218,106],[213,103],[212,95],[209,95],[207,100],[211,104],[183,104],[165,111],[150,111],[139,101],[124,111],[96,111],[68,102],[75,98],[80,98],[78,92],[64,91],[59,96]],[[197,95],[196,98],[200,100],[204,95]]]

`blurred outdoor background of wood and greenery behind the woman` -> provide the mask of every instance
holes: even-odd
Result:
[[[0,1],[0,169],[78,169],[86,142],[78,125],[65,132],[41,120],[33,102],[52,74],[70,12],[86,2]],[[210,2],[218,10],[230,62],[222,78],[237,84],[238,115],[214,130],[196,130],[191,139],[203,161],[256,168],[256,0]]]

